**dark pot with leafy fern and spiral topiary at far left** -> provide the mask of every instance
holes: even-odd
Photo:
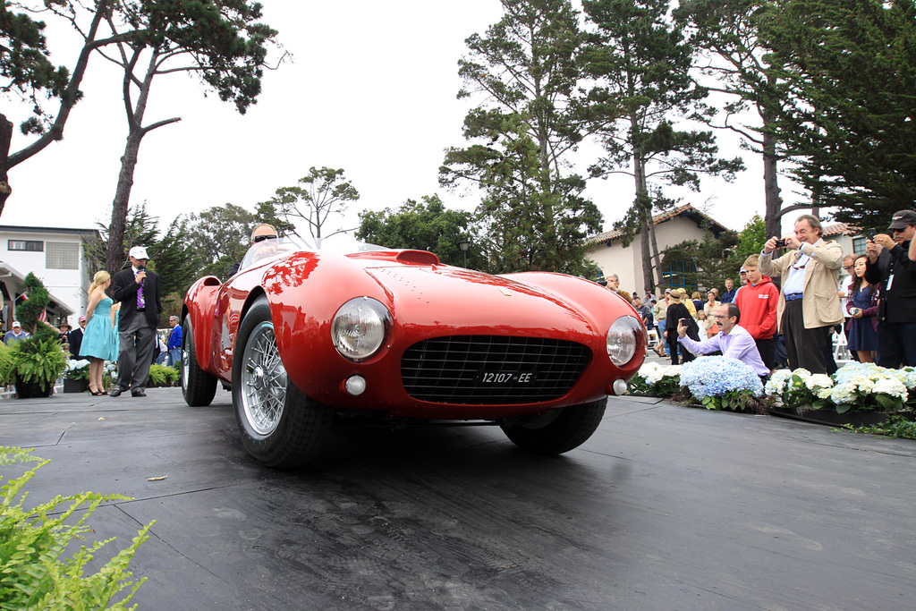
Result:
[[[49,397],[67,366],[67,355],[58,342],[57,330],[39,320],[49,303],[48,290],[31,272],[23,280],[23,288],[26,300],[16,308],[16,318],[32,335],[6,346],[0,357],[0,381],[15,384],[19,398]]]

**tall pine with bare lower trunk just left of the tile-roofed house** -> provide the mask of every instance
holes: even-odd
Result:
[[[662,284],[653,210],[674,203],[659,183],[699,191],[701,175],[731,180],[743,163],[718,158],[711,132],[676,127],[708,114],[707,91],[691,77],[694,52],[669,18],[668,0],[584,0],[583,7],[597,28],[584,56],[597,80],[589,97],[621,109],[619,121],[598,130],[606,154],[592,174],[633,177],[633,205],[615,228],[627,238],[642,233],[643,288],[651,289]]]

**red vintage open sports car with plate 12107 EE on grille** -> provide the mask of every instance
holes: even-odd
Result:
[[[309,461],[335,419],[482,420],[530,452],[567,452],[642,365],[637,312],[594,282],[331,242],[264,240],[184,300],[184,398],[209,405],[231,386],[265,464]]]

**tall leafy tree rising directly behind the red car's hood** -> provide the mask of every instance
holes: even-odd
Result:
[[[601,229],[601,213],[569,161],[585,125],[575,110],[578,16],[568,0],[502,5],[502,19],[465,41],[459,97],[483,102],[464,118],[471,146],[446,151],[440,183],[483,191],[476,214],[493,271],[580,273],[583,238]]]

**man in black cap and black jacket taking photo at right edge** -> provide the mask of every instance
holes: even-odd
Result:
[[[878,365],[896,369],[916,366],[916,261],[909,252],[916,234],[916,212],[894,213],[888,227],[893,234],[868,240],[865,279],[879,284]]]

